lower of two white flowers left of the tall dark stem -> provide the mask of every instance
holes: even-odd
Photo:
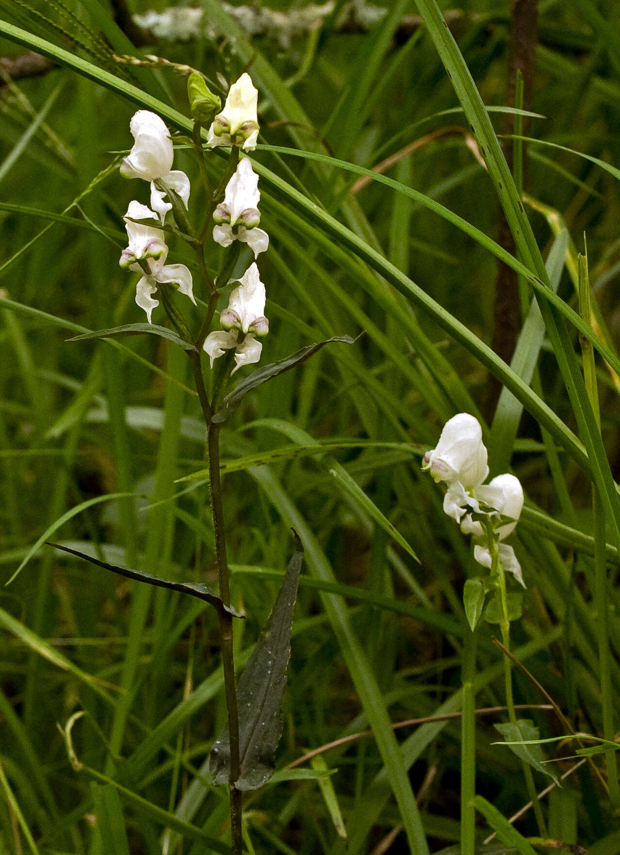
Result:
[[[151,321],[151,315],[159,301],[153,298],[158,284],[167,283],[178,286],[181,294],[186,294],[196,305],[192,293],[192,274],[185,264],[165,264],[168,246],[163,241],[163,232],[159,228],[146,226],[132,220],[155,220],[157,215],[139,202],[130,202],[124,217],[129,245],[121,254],[121,267],[144,275],[136,286],[136,303],[144,309]],[[142,264],[140,264],[142,262]],[[146,265],[148,272],[143,265]]]

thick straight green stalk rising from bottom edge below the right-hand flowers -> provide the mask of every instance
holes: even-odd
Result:
[[[475,648],[477,634],[464,629],[461,720],[461,855],[475,855]]]

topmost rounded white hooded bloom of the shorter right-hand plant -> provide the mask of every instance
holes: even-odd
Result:
[[[436,448],[424,455],[422,469],[430,469],[435,481],[446,481],[448,485],[459,481],[468,491],[479,486],[488,475],[480,422],[468,413],[452,416]]]

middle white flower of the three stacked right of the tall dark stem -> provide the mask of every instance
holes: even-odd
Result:
[[[254,257],[269,246],[269,235],[257,228],[261,221],[258,202],[261,193],[258,190],[258,176],[247,157],[239,163],[237,171],[228,181],[224,201],[214,212],[216,226],[213,239],[221,246],[230,246],[239,239],[251,246]]]

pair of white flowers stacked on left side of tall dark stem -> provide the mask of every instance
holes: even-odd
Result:
[[[159,284],[177,286],[181,294],[186,294],[196,304],[192,294],[192,274],[185,264],[164,263],[168,246],[161,228],[135,221],[155,220],[158,225],[163,225],[166,214],[172,209],[172,203],[165,201],[168,191],[174,190],[187,207],[190,182],[184,172],[172,169],[172,139],[158,115],[140,109],[133,115],[129,129],[135,141],[121,163],[121,175],[151,182],[151,208],[135,200],[129,203],[123,218],[128,245],[122,251],[119,263],[121,268],[144,274],[136,287],[136,303],[145,310],[151,323],[152,312],[159,305],[153,297]]]

